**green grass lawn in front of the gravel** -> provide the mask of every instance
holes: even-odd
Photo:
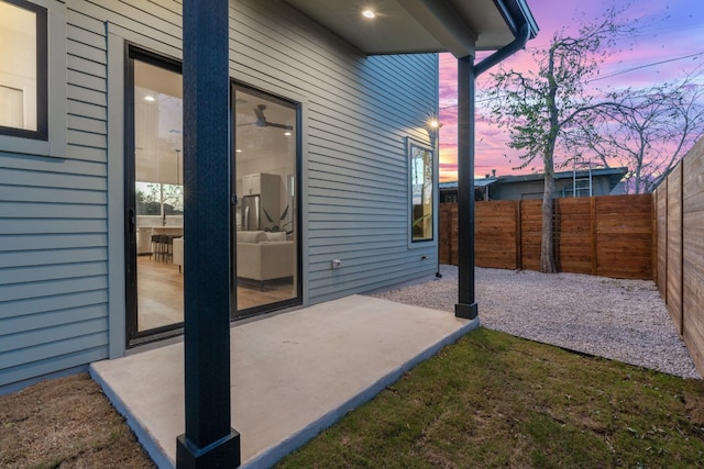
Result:
[[[704,381],[480,328],[278,467],[704,467]]]

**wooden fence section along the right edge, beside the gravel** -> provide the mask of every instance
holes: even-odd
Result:
[[[704,376],[704,139],[654,192],[658,290]]]

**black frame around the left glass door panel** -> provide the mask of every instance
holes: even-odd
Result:
[[[124,266],[125,266],[125,346],[128,348],[147,342],[172,337],[183,333],[184,323],[169,324],[140,331],[138,324],[138,263],[136,263],[136,142],[134,103],[134,62],[183,75],[183,66],[176,58],[125,43],[124,47]]]

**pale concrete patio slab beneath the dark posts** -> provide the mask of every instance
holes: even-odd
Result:
[[[271,467],[477,326],[363,295],[233,326],[231,417],[242,467]],[[160,467],[174,467],[184,433],[183,364],[177,343],[90,367]]]

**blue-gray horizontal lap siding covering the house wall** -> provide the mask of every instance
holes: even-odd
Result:
[[[178,58],[180,11],[66,1],[66,157],[0,148],[0,386],[107,356],[106,29]],[[427,141],[437,57],[363,57],[279,2],[231,0],[230,12],[231,75],[307,102],[309,301],[433,271],[435,243],[408,248],[404,138]]]

